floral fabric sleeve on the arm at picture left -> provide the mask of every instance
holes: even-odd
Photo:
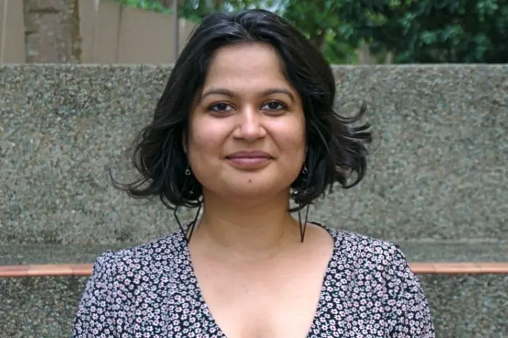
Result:
[[[114,313],[115,253],[107,251],[95,260],[93,274],[81,296],[73,322],[73,338],[117,337]]]

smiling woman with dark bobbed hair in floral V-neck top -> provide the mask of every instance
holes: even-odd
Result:
[[[205,18],[136,144],[141,179],[117,184],[196,219],[101,255],[73,337],[435,337],[396,246],[307,222],[334,183],[365,174],[369,126],[353,126],[365,108],[338,116],[335,90],[275,14]]]

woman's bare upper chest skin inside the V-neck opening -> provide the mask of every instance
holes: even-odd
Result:
[[[327,264],[326,257],[255,268],[198,263],[196,277],[226,337],[303,338],[316,318]]]

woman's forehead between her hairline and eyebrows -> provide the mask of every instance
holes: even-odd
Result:
[[[208,68],[203,90],[225,87],[248,92],[274,86],[292,87],[285,78],[276,49],[256,42],[218,49]]]

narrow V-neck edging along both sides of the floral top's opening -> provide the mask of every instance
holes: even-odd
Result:
[[[324,272],[323,280],[321,281],[321,290],[319,291],[319,301],[317,302],[317,307],[314,310],[314,318],[312,318],[312,324],[309,327],[309,331],[307,332],[305,337],[311,337],[314,330],[319,325],[319,318],[321,318],[321,313],[324,310],[325,307],[325,298],[326,298],[326,280],[329,277],[331,264],[333,261],[337,259],[337,251],[339,247],[338,243],[338,236],[336,234],[335,229],[331,229],[330,227],[327,227],[324,224],[320,224],[318,222],[309,222],[311,224],[317,225],[318,227],[321,227],[328,232],[328,234],[333,239],[333,250],[331,253],[331,257],[329,258],[328,264],[326,265],[326,271]],[[187,267],[190,271],[190,281],[191,281],[191,287],[193,287],[196,290],[196,296],[197,301],[199,302],[199,307],[201,310],[203,310],[203,313],[205,315],[206,320],[208,320],[209,323],[211,323],[211,327],[215,329],[214,331],[218,334],[216,337],[220,338],[228,338],[226,334],[223,332],[223,330],[220,328],[220,325],[218,325],[218,322],[215,321],[215,318],[213,318],[213,314],[211,313],[210,308],[208,307],[208,304],[205,301],[205,298],[203,296],[203,292],[201,290],[201,287],[199,286],[198,278],[196,276],[196,273],[194,272],[194,266],[192,265],[192,259],[191,259],[191,253],[189,251],[189,245],[187,241],[185,240],[183,234],[182,234],[182,241],[184,241],[184,258],[186,260]]]

